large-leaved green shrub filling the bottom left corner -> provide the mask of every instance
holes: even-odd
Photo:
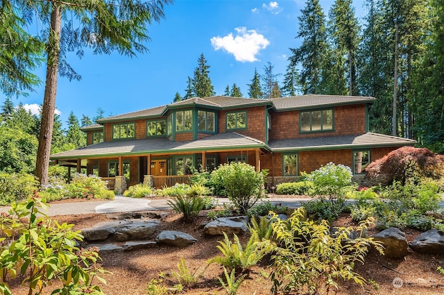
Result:
[[[0,293],[11,294],[8,280],[26,276],[22,285],[28,294],[46,294],[44,288],[50,280],[60,281],[51,294],[103,294],[94,280],[105,282],[101,275],[108,273],[99,264],[97,248],[78,248],[82,241],[79,231],[72,231],[73,224],[58,224],[40,210],[46,205],[35,196],[13,203],[8,214],[0,215]],[[8,276],[7,276],[8,274]]]

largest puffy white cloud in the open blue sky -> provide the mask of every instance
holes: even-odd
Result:
[[[270,42],[266,40],[264,35],[257,33],[255,30],[248,30],[242,26],[235,28],[237,34],[233,37],[229,33],[225,37],[212,37],[211,44],[215,50],[223,49],[231,53],[239,62],[255,62],[257,54],[265,49]]]

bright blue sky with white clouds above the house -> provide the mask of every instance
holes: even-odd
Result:
[[[320,3],[328,15],[333,0]],[[357,17],[365,15],[363,3],[354,1]],[[274,74],[284,74],[289,48],[300,45],[295,38],[297,17],[304,6],[304,0],[176,0],[165,8],[166,18],[148,28],[148,53],[137,58],[118,53],[94,56],[88,51],[81,60],[70,56],[82,79],[59,78],[60,118],[65,124],[71,110],[80,119],[94,117],[97,108],[108,117],[171,103],[176,92],[185,94],[187,77],[193,76],[200,53],[210,65],[216,94],[236,83],[247,96],[255,69],[263,74],[264,65],[271,62]],[[44,67],[37,71],[42,81],[44,71]],[[35,111],[43,101],[44,83],[35,90],[13,102]]]

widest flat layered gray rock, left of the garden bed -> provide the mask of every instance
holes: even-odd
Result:
[[[128,241],[133,239],[149,239],[154,235],[160,222],[151,219],[130,219],[124,221],[104,221],[92,228],[85,228],[82,234],[85,241]]]

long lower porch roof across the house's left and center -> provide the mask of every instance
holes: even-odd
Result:
[[[264,142],[239,133],[218,133],[200,140],[171,142],[166,137],[153,137],[143,140],[114,140],[84,146],[80,149],[51,155],[51,159],[96,158],[117,155],[146,155],[148,153],[178,153],[221,151],[233,149],[267,148]]]

